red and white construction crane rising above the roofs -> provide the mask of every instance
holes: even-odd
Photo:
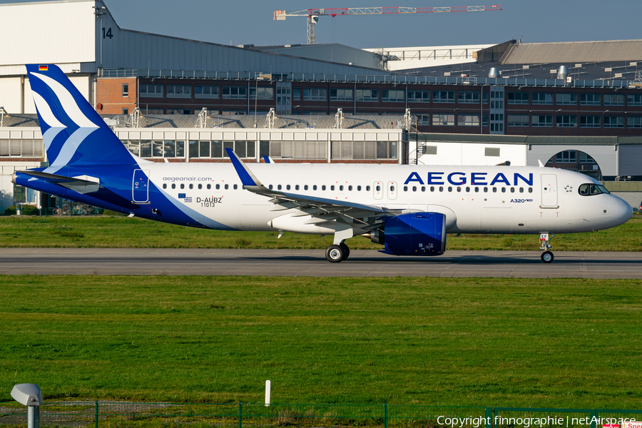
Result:
[[[501,11],[501,4],[494,6],[445,6],[445,7],[354,7],[341,9],[305,9],[302,11],[274,11],[274,21],[285,21],[286,16],[307,17],[307,44],[315,44],[315,24],[319,16],[383,15],[383,14],[434,14],[440,12]]]

